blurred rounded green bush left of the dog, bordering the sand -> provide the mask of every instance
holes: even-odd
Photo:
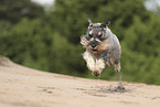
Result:
[[[86,67],[81,61],[82,47],[71,44],[43,20],[23,19],[10,32],[0,36],[0,54],[19,64],[43,71],[85,76],[83,72]]]

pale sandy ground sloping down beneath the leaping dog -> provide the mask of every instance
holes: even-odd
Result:
[[[160,107],[160,86],[52,74],[0,57],[0,107]]]

